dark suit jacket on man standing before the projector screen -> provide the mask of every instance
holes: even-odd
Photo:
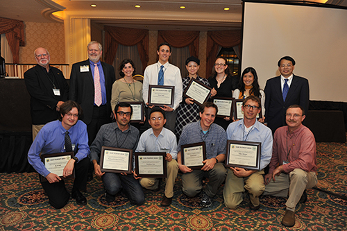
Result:
[[[265,122],[273,132],[285,126],[285,112],[290,105],[301,105],[307,113],[310,101],[308,80],[294,75],[285,101],[282,97],[280,76],[266,81],[265,92]]]

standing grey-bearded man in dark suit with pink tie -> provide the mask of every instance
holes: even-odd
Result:
[[[81,120],[87,124],[89,144],[92,144],[99,128],[111,121],[110,101],[115,69],[100,61],[103,51],[99,42],[90,42],[87,51],[88,60],[72,65],[69,100],[81,105]]]

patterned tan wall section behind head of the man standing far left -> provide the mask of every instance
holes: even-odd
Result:
[[[65,35],[62,23],[24,22],[26,46],[19,48],[19,63],[35,64],[33,53],[44,47],[51,55],[51,63],[65,63]]]

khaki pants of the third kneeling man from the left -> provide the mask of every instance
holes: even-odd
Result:
[[[167,162],[167,178],[165,185],[165,196],[171,198],[174,196],[174,186],[178,174],[178,163],[176,160]],[[142,187],[150,190],[158,189],[158,178],[141,178],[139,183]]]

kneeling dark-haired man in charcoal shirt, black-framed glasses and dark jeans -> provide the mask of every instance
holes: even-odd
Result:
[[[142,205],[144,203],[144,192],[139,180],[133,174],[101,172],[100,154],[103,146],[113,148],[133,149],[139,142],[139,130],[129,124],[133,108],[128,103],[118,103],[115,107],[116,122],[101,126],[92,146],[90,146],[90,160],[94,164],[96,176],[101,177],[105,187],[105,200],[112,203],[119,191],[124,190],[131,203]]]

